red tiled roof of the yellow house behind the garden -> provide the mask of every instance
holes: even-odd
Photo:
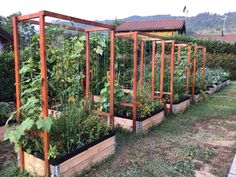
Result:
[[[184,20],[148,20],[124,22],[116,28],[118,32],[124,31],[162,31],[177,30],[184,27]]]

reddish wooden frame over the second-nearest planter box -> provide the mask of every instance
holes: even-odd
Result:
[[[143,80],[144,80],[144,42],[145,41],[152,41],[152,98],[153,99],[160,99],[162,97],[155,96],[155,48],[156,48],[156,42],[162,41],[162,64],[161,64],[161,79],[160,79],[160,95],[163,96],[163,82],[164,82],[164,39],[157,35],[147,34],[143,32],[124,32],[124,33],[116,33],[115,37],[118,38],[127,38],[133,41],[133,100],[132,103],[120,103],[121,106],[131,107],[133,112],[133,132],[136,132],[136,122],[137,122],[137,85],[138,85],[138,78],[137,78],[137,72],[138,72],[138,66],[137,66],[137,60],[138,60],[138,40],[140,38],[141,41],[141,53],[140,53],[140,86],[143,86]]]

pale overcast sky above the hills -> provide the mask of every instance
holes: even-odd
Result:
[[[224,14],[236,11],[235,0],[2,0],[0,15],[48,10],[88,20],[125,18],[131,15],[188,15],[201,12]]]

